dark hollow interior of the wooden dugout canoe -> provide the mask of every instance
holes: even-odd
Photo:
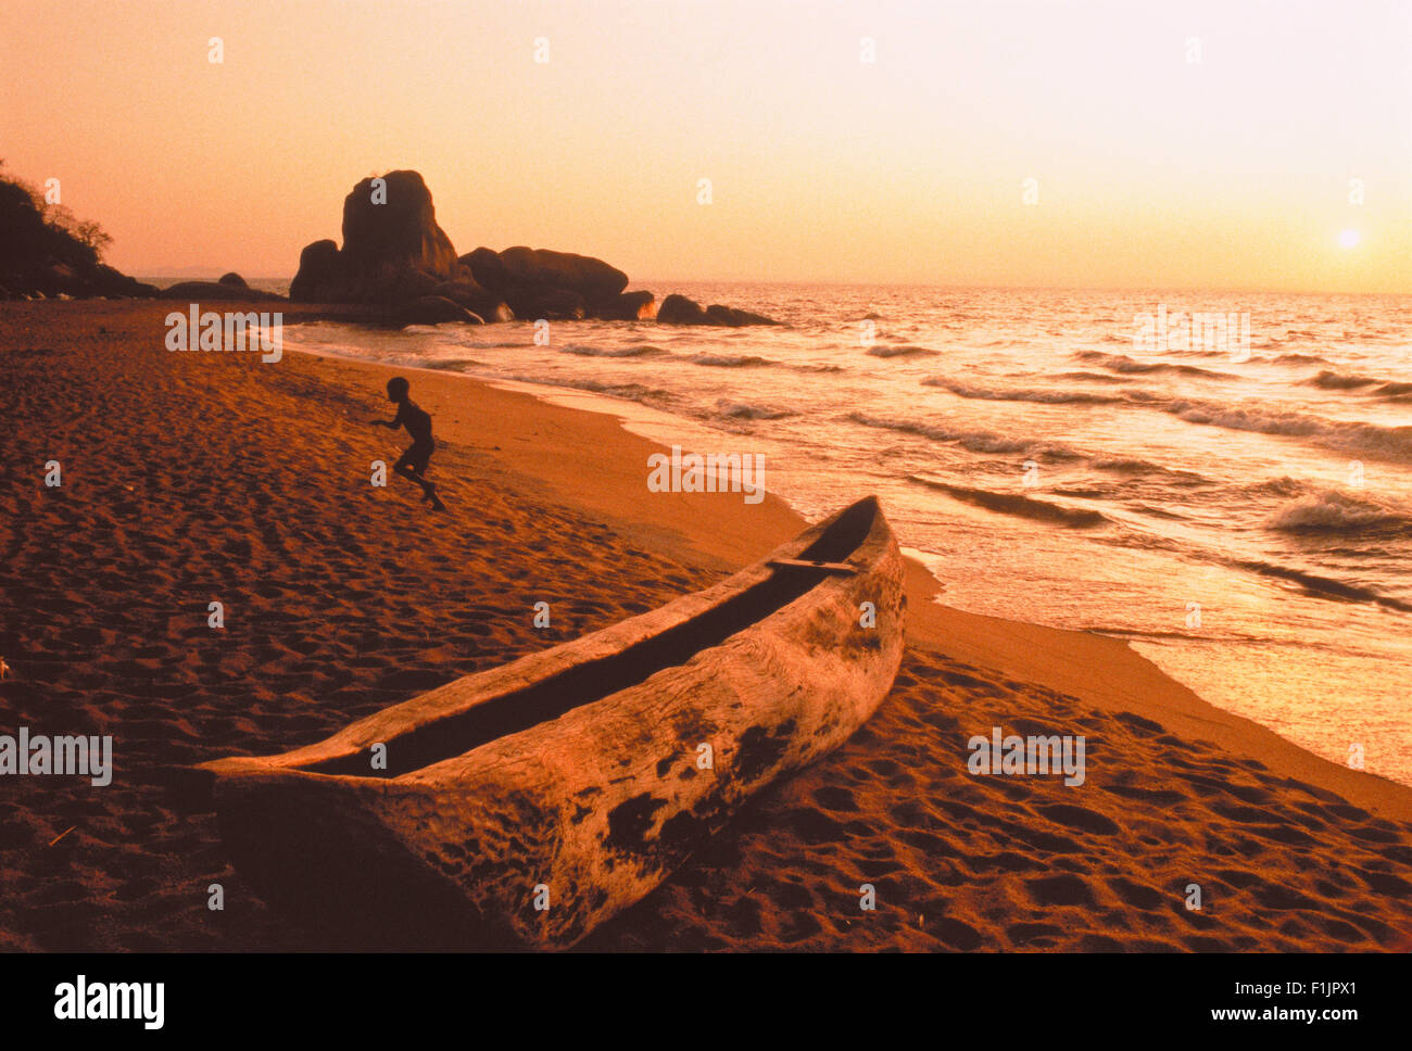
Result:
[[[801,560],[842,561],[867,539],[880,509],[875,499],[847,508],[799,553]],[[465,711],[387,741],[385,770],[370,770],[364,752],[299,767],[309,773],[352,777],[398,777],[463,755],[508,734],[558,718],[645,681],[662,669],[683,664],[731,635],[782,609],[830,578],[826,569],[775,567],[770,577],[719,605],[642,639],[611,656],[586,660],[531,686],[491,697]]]

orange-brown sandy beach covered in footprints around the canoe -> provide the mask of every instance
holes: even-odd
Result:
[[[655,447],[610,416],[404,371],[436,427],[449,511],[429,515],[411,485],[369,484],[405,444],[366,425],[391,415],[387,370],[168,353],[169,309],[0,310],[6,732],[114,739],[107,787],[0,786],[6,949],[330,947],[254,896],[162,767],[318,741],[802,528],[772,497],[650,494]],[[583,948],[1412,948],[1412,790],[1213,708],[1118,640],[935,591],[914,566],[902,672],[863,731]],[[1084,735],[1084,783],[969,773],[966,741],[993,727]]]

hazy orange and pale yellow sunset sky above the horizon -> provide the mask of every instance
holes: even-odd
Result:
[[[1412,292],[1409,54],[1399,0],[6,0],[0,155],[138,275],[291,275],[415,168],[459,253],[638,279]]]

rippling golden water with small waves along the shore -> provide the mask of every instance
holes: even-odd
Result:
[[[1412,298],[634,286],[784,324],[285,340],[616,399],[666,444],[762,454],[809,518],[875,492],[947,604],[1130,639],[1213,704],[1412,784]],[[1192,315],[1236,323],[1183,341]]]

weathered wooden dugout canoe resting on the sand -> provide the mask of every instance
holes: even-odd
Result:
[[[705,591],[185,787],[267,900],[350,942],[563,948],[843,743],[904,609],[870,497]]]

